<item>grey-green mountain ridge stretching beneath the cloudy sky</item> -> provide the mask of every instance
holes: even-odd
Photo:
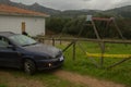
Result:
[[[130,18],[131,17],[131,5],[127,5],[127,7],[121,7],[121,8],[116,8],[116,9],[111,9],[111,10],[107,10],[107,11],[98,11],[98,10],[67,10],[67,11],[60,11],[60,10],[55,10],[55,9],[50,9],[50,8],[46,8],[44,5],[40,5],[38,3],[34,3],[31,5],[26,5],[23,3],[16,3],[16,2],[12,2],[10,0],[0,0],[0,3],[4,3],[4,4],[10,4],[13,7],[19,7],[22,9],[27,9],[27,10],[33,10],[33,11],[37,11],[37,12],[41,12],[41,13],[47,13],[53,16],[78,16],[78,15],[87,15],[87,14],[97,14],[97,13],[104,13],[104,14],[111,14],[115,16],[121,16],[121,17],[127,17]]]

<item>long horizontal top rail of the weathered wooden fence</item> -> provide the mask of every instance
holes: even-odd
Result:
[[[116,40],[116,39],[90,39],[90,38],[70,38],[70,37],[62,37],[62,38],[53,38],[53,37],[37,37],[36,40],[40,42],[45,42],[45,40],[51,40],[52,46],[55,46],[56,41],[92,41],[92,42],[108,42],[108,44],[131,44],[131,40]]]

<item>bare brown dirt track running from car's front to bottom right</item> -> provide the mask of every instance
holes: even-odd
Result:
[[[115,84],[112,82],[99,80],[90,76],[82,76],[67,71],[57,71],[55,75],[68,79],[72,83],[84,84],[87,87],[126,87],[123,85]]]

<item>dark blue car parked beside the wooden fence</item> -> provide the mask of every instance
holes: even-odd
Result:
[[[62,51],[56,47],[21,34],[0,32],[0,66],[24,69],[34,74],[37,70],[59,67],[63,60]]]

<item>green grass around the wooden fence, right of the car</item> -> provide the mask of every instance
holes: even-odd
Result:
[[[81,48],[90,53],[100,53],[98,44],[93,42],[81,42]],[[124,84],[131,87],[131,60],[121,63],[112,69],[97,69],[93,62],[86,57],[84,52],[76,45],[76,60],[72,60],[72,48],[69,48],[66,52],[66,63],[63,70],[76,72],[79,74],[91,75],[99,79],[112,80],[116,83]],[[60,48],[64,48],[60,46]],[[106,44],[106,53],[110,54],[131,54],[131,45],[118,45],[118,44]],[[99,64],[99,58],[94,58]],[[104,66],[107,67],[122,59],[119,58],[105,58]]]

